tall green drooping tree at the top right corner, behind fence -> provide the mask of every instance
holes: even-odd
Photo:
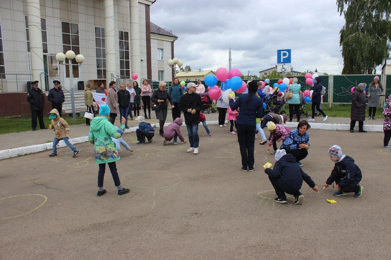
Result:
[[[345,25],[340,30],[342,74],[372,74],[389,57],[391,4],[389,0],[337,0]]]

